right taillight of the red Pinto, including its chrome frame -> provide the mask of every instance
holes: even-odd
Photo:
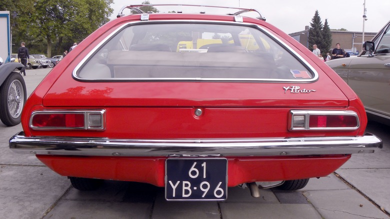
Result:
[[[290,111],[290,130],[354,130],[358,127],[359,119],[354,111]]]

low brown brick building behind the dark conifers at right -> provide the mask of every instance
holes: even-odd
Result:
[[[308,47],[308,29],[309,26],[305,26],[305,29],[299,32],[289,33],[288,35],[296,39],[302,45]],[[332,44],[331,48],[336,47],[336,43],[340,43],[340,47],[345,50],[352,50],[356,48],[356,52],[361,51],[362,45],[362,32],[356,31],[341,31],[341,30],[330,30],[332,33]],[[364,32],[364,41],[371,40],[376,32]],[[321,51],[322,52],[322,51]]]

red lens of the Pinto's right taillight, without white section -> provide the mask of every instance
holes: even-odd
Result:
[[[357,127],[357,119],[353,115],[310,115],[309,128],[316,127]]]

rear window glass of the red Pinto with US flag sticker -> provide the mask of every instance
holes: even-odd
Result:
[[[232,23],[122,27],[73,75],[118,80],[307,80],[313,71],[269,33]]]

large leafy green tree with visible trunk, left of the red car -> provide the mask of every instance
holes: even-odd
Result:
[[[34,3],[34,20],[31,26],[35,36],[47,42],[46,54],[51,56],[51,46],[68,36],[72,41],[81,41],[99,26],[108,21],[112,13],[109,4],[113,0],[37,0]],[[75,6],[77,5],[77,6]]]

